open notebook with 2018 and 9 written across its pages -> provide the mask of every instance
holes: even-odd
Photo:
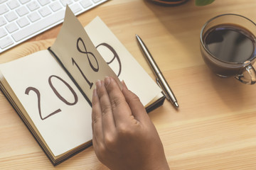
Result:
[[[121,89],[124,80],[148,112],[164,103],[159,86],[105,23],[97,17],[82,28],[68,7],[48,50],[0,64],[1,91],[54,165],[92,145],[92,90],[106,76]]]

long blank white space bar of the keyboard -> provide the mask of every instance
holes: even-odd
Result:
[[[41,30],[43,30],[44,28],[53,25],[54,23],[57,23],[58,21],[61,21],[63,19],[63,16],[65,14],[65,11],[58,11],[57,13],[55,13],[55,16],[49,16],[46,18],[42,18],[40,22],[31,24],[30,26],[27,26],[25,28],[23,28],[22,30],[18,30],[16,31],[16,33],[14,33],[12,35],[12,37],[14,38],[14,40],[17,42],[19,40],[22,40],[24,38],[27,38],[30,35],[33,35],[34,33],[37,33]],[[47,23],[47,25],[46,25]]]

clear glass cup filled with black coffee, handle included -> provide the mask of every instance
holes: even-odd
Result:
[[[255,84],[256,25],[250,19],[228,13],[215,16],[201,30],[201,55],[220,77],[235,77]]]

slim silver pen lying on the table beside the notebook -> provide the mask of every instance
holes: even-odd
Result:
[[[167,83],[166,79],[164,79],[163,74],[161,73],[159,67],[156,65],[156,62],[154,61],[153,57],[151,56],[149,50],[146,48],[146,45],[142,41],[141,38],[139,38],[139,35],[136,35],[137,41],[139,42],[139,45],[142,49],[142,52],[144,53],[146,60],[149,62],[149,65],[151,69],[153,69],[154,74],[156,75],[156,83],[159,84],[161,89],[164,91],[164,94],[167,98],[167,100],[171,101],[171,103],[178,108],[178,102],[176,100],[176,97],[174,96],[174,93],[171,91],[171,88],[169,84]]]

